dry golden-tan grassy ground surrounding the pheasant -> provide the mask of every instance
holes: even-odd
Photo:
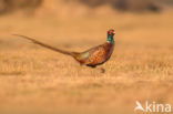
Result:
[[[65,19],[0,17],[0,113],[130,114],[136,100],[173,105],[172,20],[172,11]],[[99,66],[106,70],[103,74],[11,35],[83,51],[105,42],[111,27],[116,46],[111,60]]]

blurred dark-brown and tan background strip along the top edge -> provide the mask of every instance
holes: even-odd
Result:
[[[166,7],[172,7],[173,2],[172,0],[1,0],[0,13],[7,14],[22,10],[30,14],[61,14],[64,12],[89,14],[91,10],[103,6],[114,11],[160,12]]]

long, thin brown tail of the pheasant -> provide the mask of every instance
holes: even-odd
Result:
[[[12,34],[12,35],[24,38],[24,39],[30,40],[33,43],[39,44],[39,45],[41,45],[43,48],[47,48],[47,49],[53,50],[55,52],[60,52],[60,53],[63,53],[63,54],[68,54],[68,55],[72,55],[73,56],[73,52],[68,52],[68,51],[64,51],[64,50],[61,50],[61,49],[53,48],[51,45],[44,44],[44,43],[42,43],[40,41],[37,41],[37,40],[32,39],[32,38],[29,38],[29,37],[26,37],[26,35],[21,35],[21,34]]]

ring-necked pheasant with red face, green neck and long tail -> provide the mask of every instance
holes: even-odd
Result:
[[[108,39],[106,39],[105,43],[98,45],[95,48],[89,49],[84,52],[69,52],[69,51],[60,50],[60,49],[57,49],[54,46],[44,44],[40,41],[37,41],[37,40],[29,38],[29,37],[26,37],[26,35],[20,35],[20,34],[13,34],[13,35],[24,38],[24,39],[30,40],[33,43],[39,44],[41,46],[44,46],[47,49],[50,49],[50,50],[53,50],[53,51],[57,51],[57,52],[60,52],[60,53],[63,53],[67,55],[71,55],[80,64],[84,64],[84,65],[88,65],[91,68],[95,68],[96,65],[103,64],[104,62],[106,62],[110,59],[110,56],[113,52],[113,49],[114,49],[114,39],[113,39],[114,33],[115,33],[114,30],[109,30],[108,31]]]

